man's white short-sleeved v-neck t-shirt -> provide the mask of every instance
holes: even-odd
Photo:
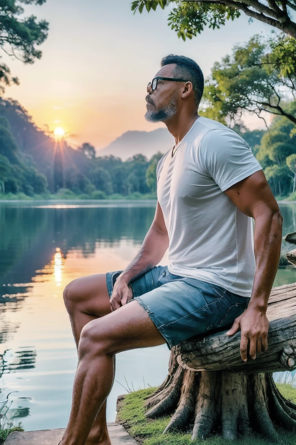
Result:
[[[168,269],[250,297],[255,275],[252,218],[224,190],[262,170],[232,129],[198,117],[157,166],[157,196],[169,243]]]

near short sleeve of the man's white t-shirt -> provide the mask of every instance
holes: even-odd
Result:
[[[209,130],[198,150],[200,167],[222,191],[262,170],[249,145],[234,131]]]

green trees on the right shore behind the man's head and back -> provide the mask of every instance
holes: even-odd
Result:
[[[296,39],[278,32],[234,45],[214,63],[201,107],[202,115],[228,124],[240,124],[245,112],[273,117],[254,154],[273,194],[291,199],[296,198],[295,55]]]

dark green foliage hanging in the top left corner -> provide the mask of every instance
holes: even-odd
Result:
[[[42,5],[46,0],[0,0],[0,48],[11,57],[25,64],[32,64],[40,59],[42,52],[36,47],[47,38],[48,22],[36,20],[36,16],[22,17],[23,5]],[[5,86],[18,84],[17,77],[12,77],[10,69],[0,64],[0,93]]]

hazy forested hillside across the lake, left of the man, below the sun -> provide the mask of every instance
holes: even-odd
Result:
[[[148,160],[138,154],[123,162],[114,156],[95,157],[87,143],[74,150],[38,129],[17,101],[0,101],[2,198],[155,197],[161,156]]]

